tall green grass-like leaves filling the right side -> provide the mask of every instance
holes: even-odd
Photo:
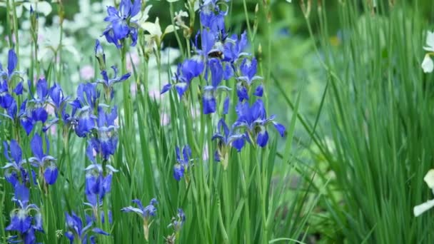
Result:
[[[433,76],[420,68],[430,26],[419,6],[340,1],[336,16],[312,9],[327,88],[318,129],[305,128],[319,148],[313,156],[325,160],[318,182],[329,181],[318,211],[326,242],[433,243],[433,213],[413,216],[431,198],[423,176],[434,163]],[[337,47],[330,19],[340,22]]]

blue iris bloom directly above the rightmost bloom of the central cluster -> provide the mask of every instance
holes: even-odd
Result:
[[[236,84],[236,93],[240,101],[244,99],[248,100],[248,89],[251,88],[254,81],[261,81],[263,78],[261,76],[256,76],[258,62],[255,58],[243,59],[243,62],[240,65],[241,76],[237,77]],[[263,86],[260,84],[256,87],[255,92],[253,93],[255,96],[263,95]]]

